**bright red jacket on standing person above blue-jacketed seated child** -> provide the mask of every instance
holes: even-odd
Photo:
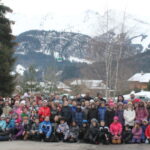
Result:
[[[43,121],[45,117],[51,116],[51,111],[49,107],[40,107],[38,111],[40,121]],[[44,118],[43,118],[44,117]]]

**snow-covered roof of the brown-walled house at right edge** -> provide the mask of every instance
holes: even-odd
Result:
[[[128,79],[131,82],[148,83],[150,81],[150,73],[136,73]]]

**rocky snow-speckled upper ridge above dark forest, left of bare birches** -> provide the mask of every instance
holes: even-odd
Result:
[[[86,51],[91,37],[80,33],[31,30],[17,36],[16,54],[31,52],[70,59],[86,59]]]

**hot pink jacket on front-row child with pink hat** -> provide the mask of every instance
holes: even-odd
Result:
[[[110,125],[110,133],[112,135],[121,135],[122,133],[122,124],[120,122],[112,123]]]

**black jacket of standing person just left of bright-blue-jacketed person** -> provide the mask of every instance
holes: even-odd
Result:
[[[91,108],[88,111],[88,116],[87,116],[88,121],[91,122],[91,120],[93,118],[98,120],[98,109],[97,108]]]

